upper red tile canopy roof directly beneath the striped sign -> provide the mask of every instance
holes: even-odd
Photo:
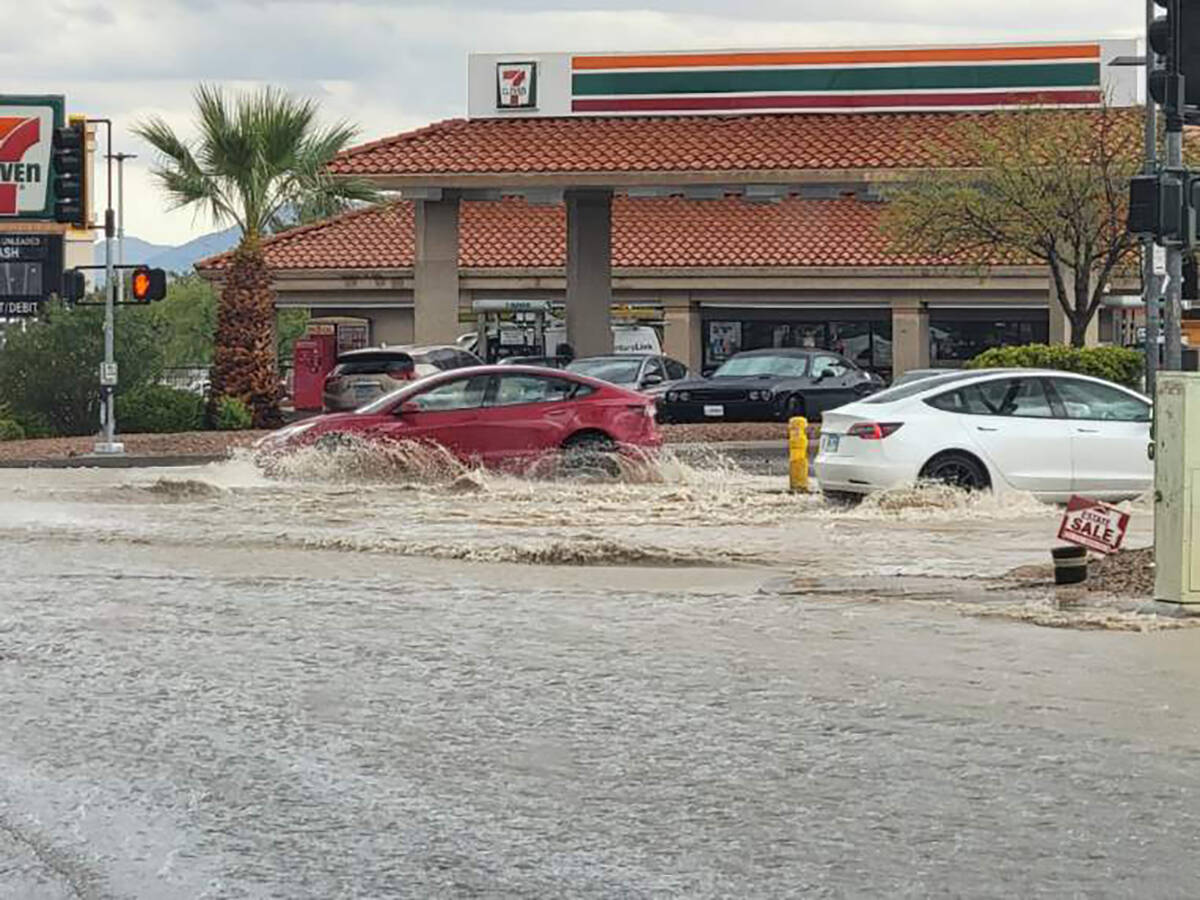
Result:
[[[330,170],[532,175],[923,168],[937,162],[932,150],[953,126],[986,115],[1003,113],[450,119],[346,150]]]

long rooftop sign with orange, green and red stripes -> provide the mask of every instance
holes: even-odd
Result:
[[[1140,102],[1133,40],[733,52],[472,54],[472,118],[1114,107]],[[541,96],[539,96],[541,95]]]

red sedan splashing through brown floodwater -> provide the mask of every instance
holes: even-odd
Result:
[[[370,440],[440,444],[464,461],[510,466],[566,451],[594,458],[661,444],[654,401],[560,370],[476,366],[431,376],[353,413],[306,419],[268,436],[264,449]]]

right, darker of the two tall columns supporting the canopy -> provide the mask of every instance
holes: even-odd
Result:
[[[566,341],[576,356],[612,353],[612,192],[565,199]]]

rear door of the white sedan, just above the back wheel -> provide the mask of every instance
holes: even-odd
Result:
[[[1048,498],[1070,494],[1070,425],[1046,379],[997,378],[958,392],[970,439],[1009,485]]]

